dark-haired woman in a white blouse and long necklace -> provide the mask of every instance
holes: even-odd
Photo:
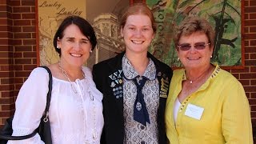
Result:
[[[93,27],[78,16],[65,18],[54,36],[60,60],[48,66],[53,75],[49,111],[53,143],[100,143],[102,93],[96,89],[90,69],[83,66],[96,43]],[[31,134],[38,127],[46,107],[48,82],[45,69],[31,72],[18,94],[12,135]],[[9,144],[16,142],[43,143],[39,134]]]

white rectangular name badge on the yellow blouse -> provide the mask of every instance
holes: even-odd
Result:
[[[203,110],[204,108],[189,103],[186,106],[185,115],[200,120],[202,117]]]

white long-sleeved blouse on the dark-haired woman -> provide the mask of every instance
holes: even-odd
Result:
[[[99,144],[103,127],[102,93],[96,89],[90,69],[82,67],[86,78],[72,85],[53,77],[53,90],[50,100],[50,129],[54,144]],[[13,120],[13,135],[31,134],[40,123],[46,108],[49,76],[45,69],[35,68],[18,93]],[[96,130],[96,138],[93,138]],[[39,134],[33,138],[12,143],[39,144]]]

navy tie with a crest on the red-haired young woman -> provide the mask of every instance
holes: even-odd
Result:
[[[146,83],[148,78],[142,76],[139,77],[139,81],[137,79],[139,76],[133,79],[134,84],[137,87],[137,96],[134,102],[134,120],[140,122],[142,125],[146,126],[146,122],[150,123],[150,116],[146,110],[146,102],[144,101],[144,95],[142,94],[142,88]]]

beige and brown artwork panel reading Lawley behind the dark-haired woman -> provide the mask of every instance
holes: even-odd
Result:
[[[58,62],[53,38],[58,26],[68,15],[86,18],[94,27],[98,44],[90,54],[86,66],[112,58],[124,50],[119,32],[119,19],[129,0],[37,0],[38,11],[38,65]]]

